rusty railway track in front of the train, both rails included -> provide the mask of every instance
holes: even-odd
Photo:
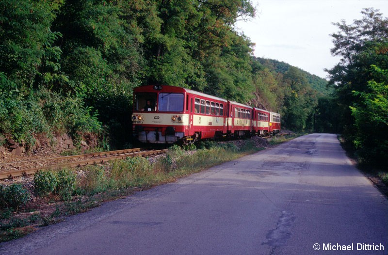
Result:
[[[97,152],[74,156],[53,157],[46,159],[21,160],[0,163],[0,180],[27,176],[38,170],[59,169],[64,167],[78,167],[88,164],[105,163],[114,159],[126,159],[128,157],[144,157],[165,153],[166,150],[142,151],[140,148]]]

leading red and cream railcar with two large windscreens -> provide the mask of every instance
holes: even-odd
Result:
[[[137,87],[133,94],[133,131],[142,143],[194,143],[226,135],[223,98],[167,85]]]

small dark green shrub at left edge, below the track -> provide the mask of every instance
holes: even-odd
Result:
[[[3,208],[12,207],[18,209],[25,205],[31,199],[29,191],[20,183],[14,183],[10,186],[0,186],[0,205]]]

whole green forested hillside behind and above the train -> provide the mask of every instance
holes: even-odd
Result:
[[[123,146],[132,90],[153,83],[250,103],[280,112],[284,127],[312,130],[325,81],[254,58],[234,30],[254,15],[249,0],[2,0],[0,140],[92,132]]]

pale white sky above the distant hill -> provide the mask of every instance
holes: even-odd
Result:
[[[379,9],[388,16],[388,0],[252,0],[257,14],[236,24],[255,43],[254,55],[283,61],[321,78],[324,68],[339,63],[333,57],[330,34],[338,32],[333,22],[352,24],[363,8]]]

